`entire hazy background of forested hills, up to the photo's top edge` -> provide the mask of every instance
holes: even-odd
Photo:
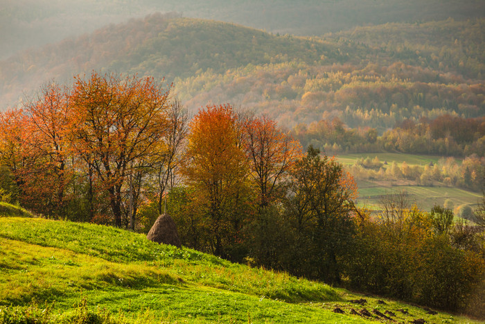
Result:
[[[33,47],[0,60],[1,110],[96,70],[165,78],[191,112],[231,103],[290,127],[485,114],[484,1],[4,4],[0,56]]]

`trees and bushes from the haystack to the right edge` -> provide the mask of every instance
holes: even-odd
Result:
[[[479,228],[452,223],[439,206],[418,210],[405,194],[382,198],[371,219],[355,207],[355,183],[342,164],[311,146],[306,155],[288,151],[289,137],[274,123],[229,106],[201,110],[190,130],[186,183],[169,196],[187,246],[483,316]],[[267,136],[275,132],[281,137]]]

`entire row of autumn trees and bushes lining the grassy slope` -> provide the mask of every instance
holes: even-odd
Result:
[[[312,146],[302,154],[274,121],[230,105],[189,122],[170,89],[96,73],[46,86],[1,114],[3,191],[49,216],[140,231],[167,208],[185,246],[433,307],[485,309],[483,232],[397,198],[370,219],[333,158]]]

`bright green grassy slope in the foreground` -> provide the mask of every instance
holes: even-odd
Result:
[[[0,246],[0,323],[473,323],[101,225],[0,215]]]

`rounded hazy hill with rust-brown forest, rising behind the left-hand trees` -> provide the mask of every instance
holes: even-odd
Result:
[[[23,94],[55,78],[69,83],[77,74],[114,71],[186,78],[211,69],[339,56],[336,49],[299,37],[277,37],[254,28],[202,19],[154,14],[110,25],[76,40],[24,51],[0,61],[0,102],[14,105]]]

